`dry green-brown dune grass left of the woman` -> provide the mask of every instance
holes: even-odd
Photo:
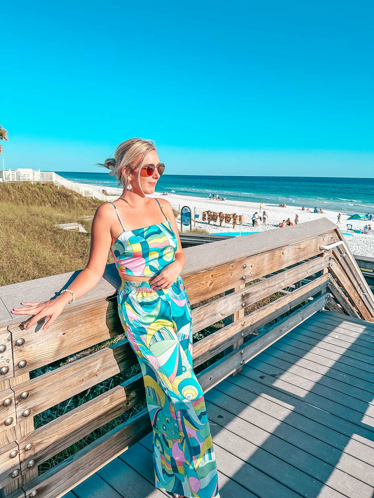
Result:
[[[100,204],[54,184],[0,183],[0,285],[84,268]],[[88,233],[55,226],[71,222]]]

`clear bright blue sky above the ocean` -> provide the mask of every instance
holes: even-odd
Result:
[[[1,6],[5,167],[374,176],[372,1],[136,3]]]

